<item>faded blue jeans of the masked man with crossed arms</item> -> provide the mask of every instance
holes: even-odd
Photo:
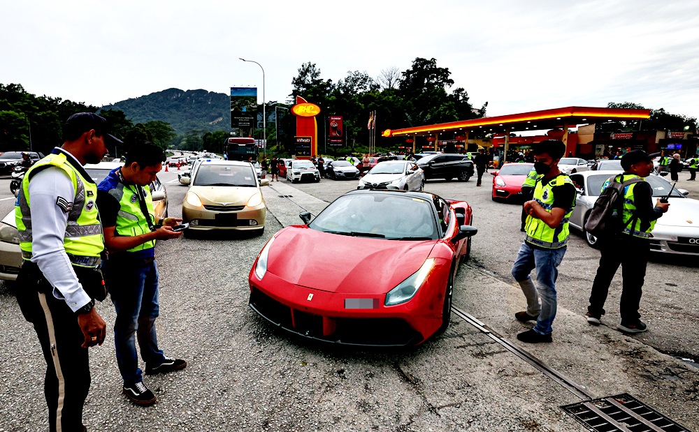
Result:
[[[565,247],[560,249],[535,249],[523,243],[512,266],[512,277],[519,283],[527,302],[527,313],[539,315],[534,326],[538,334],[551,334],[556,318],[556,278],[558,267],[565,255]],[[536,269],[536,285],[529,274]],[[541,298],[541,302],[539,302]]]

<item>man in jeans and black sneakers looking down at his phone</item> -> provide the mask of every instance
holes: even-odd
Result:
[[[117,310],[114,345],[124,380],[122,390],[131,401],[143,406],[155,403],[155,395],[143,384],[136,335],[146,374],[187,366],[184,360],[164,355],[158,348],[155,332],[155,319],[159,315],[155,241],[182,235],[181,231],[173,230],[182,219],[154,217],[148,185],[161,170],[164,159],[163,150],[150,142],[127,142],[124,166],[112,170],[97,187],[97,207],[108,253],[102,267]]]

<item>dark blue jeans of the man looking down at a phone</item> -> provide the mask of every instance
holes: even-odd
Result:
[[[136,336],[145,363],[157,367],[165,356],[158,349],[155,319],[159,315],[158,267],[155,261],[106,260],[104,278],[112,303],[117,310],[114,322],[114,346],[124,385],[143,381],[138,368]]]

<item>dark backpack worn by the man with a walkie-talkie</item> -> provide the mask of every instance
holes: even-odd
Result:
[[[610,178],[610,184],[597,198],[590,216],[585,221],[585,230],[598,239],[616,237],[635,218],[635,216],[632,216],[627,223],[622,222],[624,220],[624,188],[643,180],[634,177],[620,183],[617,181],[617,177]],[[623,178],[624,175],[622,174],[621,179]]]

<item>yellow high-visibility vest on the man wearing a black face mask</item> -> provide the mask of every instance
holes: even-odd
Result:
[[[542,181],[536,182],[536,187],[534,188],[533,199],[538,202],[545,211],[551,213],[554,204],[554,191],[555,186],[563,186],[563,184],[571,184],[575,187],[575,184],[570,180],[565,174],[561,174],[554,179],[551,179],[546,185]],[[547,249],[560,249],[568,244],[568,234],[570,234],[569,219],[572,214],[572,209],[575,207],[576,195],[573,195],[572,203],[570,204],[570,209],[565,211],[565,215],[561,220],[561,223],[556,228],[551,228],[544,221],[539,218],[535,218],[531,215],[526,218],[526,241],[536,246]]]

